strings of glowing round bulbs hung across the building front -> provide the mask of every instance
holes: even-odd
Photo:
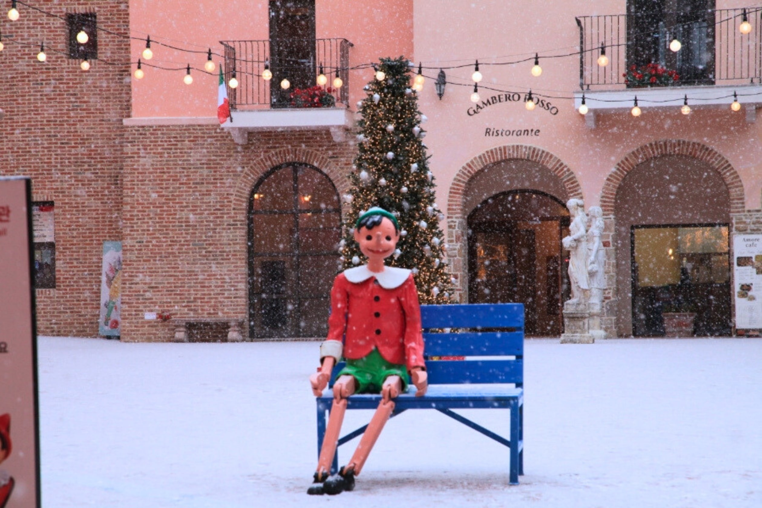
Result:
[[[42,8],[38,8],[37,6],[30,5],[26,2],[21,2],[20,0],[11,0],[11,8],[8,10],[8,20],[10,21],[18,21],[19,18],[21,18],[21,12],[19,11],[19,5],[23,6],[24,8],[28,8],[30,11],[36,11],[40,14],[44,14],[46,16],[50,16],[53,18],[59,18],[61,20],[66,21],[66,18],[55,14],[50,11],[46,11]],[[741,9],[741,14],[733,15],[730,18],[724,18],[719,21],[716,21],[716,24],[724,23],[725,21],[731,21],[733,18],[738,18],[738,31],[746,36],[753,32],[754,27],[751,24],[750,20],[759,19],[760,20],[760,28],[762,28],[762,7],[760,5],[751,5],[747,8]],[[668,30],[668,33],[675,34],[677,33],[677,28],[684,26],[686,23],[676,23],[669,27],[666,27]],[[145,41],[145,47],[143,48],[142,52],[140,53],[139,58],[136,62],[111,62],[107,59],[102,59],[95,56],[88,56],[87,53],[83,54],[83,58],[80,62],[80,67],[83,71],[88,71],[91,69],[91,64],[94,61],[98,61],[101,63],[104,63],[106,65],[121,65],[121,66],[129,66],[132,67],[135,66],[135,70],[133,72],[133,76],[136,79],[142,79],[145,77],[145,71],[144,68],[150,68],[150,69],[158,69],[162,71],[171,71],[171,72],[184,72],[183,75],[183,81],[186,85],[191,85],[194,81],[193,75],[191,74],[191,71],[193,72],[199,72],[204,73],[207,75],[216,75],[216,64],[214,62],[215,57],[224,58],[223,55],[219,53],[213,52],[211,48],[208,48],[207,50],[194,50],[194,49],[187,49],[181,46],[176,46],[174,44],[162,42],[162,40],[156,40],[152,39],[150,35],[143,37],[136,37],[131,36],[127,34],[120,34],[118,32],[115,32],[114,30],[109,30],[106,27],[103,27],[99,24],[92,24],[91,28],[94,30],[99,30],[104,32],[105,34],[110,34],[115,37],[120,37],[126,40],[139,40],[139,41]],[[651,32],[648,32],[648,34],[651,34]],[[648,35],[645,34],[645,35]],[[88,34],[85,32],[85,30],[80,30],[80,32],[76,35],[76,40],[80,44],[85,44],[88,42]],[[5,37],[5,39],[2,36],[2,30],[0,30],[0,51],[3,50],[5,44],[4,43],[15,43],[19,44],[21,46],[34,46],[37,47],[36,44],[31,43],[24,43],[15,37]],[[186,45],[191,45],[191,43],[184,42]],[[153,47],[152,47],[153,46]],[[181,53],[188,53],[190,55],[198,55],[203,54],[207,56],[207,59],[203,62],[203,68],[196,67],[194,65],[191,65],[190,62],[187,64],[176,64],[175,62],[171,62],[175,64],[174,66],[168,66],[168,65],[159,65],[158,63],[149,62],[154,58],[154,49],[156,46],[162,46],[169,50],[178,51]],[[200,46],[198,44],[193,44],[193,46]],[[626,43],[616,43],[613,40],[603,40],[600,42],[600,47],[593,47],[588,49],[580,49],[576,51],[567,51],[564,53],[557,53],[558,50],[548,50],[543,52],[533,52],[533,55],[531,53],[524,53],[524,56],[520,56],[520,58],[514,58],[514,59],[505,59],[503,61],[495,61],[498,57],[488,57],[488,58],[478,58],[474,59],[474,63],[463,63],[458,65],[443,65],[443,66],[427,66],[423,65],[423,62],[419,62],[418,64],[418,72],[413,78],[413,85],[411,85],[411,89],[418,93],[423,90],[424,83],[426,79],[432,79],[435,80],[437,78],[432,77],[431,75],[424,74],[424,70],[434,70],[442,73],[444,70],[456,70],[456,69],[467,69],[470,67],[473,67],[474,71],[472,72],[471,79],[472,81],[469,83],[459,83],[456,79],[453,79],[452,77],[449,78],[447,81],[447,85],[454,85],[454,86],[463,86],[467,88],[472,88],[472,93],[470,94],[470,100],[474,103],[479,103],[479,101],[482,101],[482,97],[479,94],[479,90],[482,91],[494,91],[497,93],[510,93],[510,94],[523,94],[523,101],[525,103],[525,107],[527,110],[534,110],[536,107],[536,104],[538,104],[539,101],[542,99],[562,99],[562,100],[568,100],[573,99],[574,97],[568,94],[563,93],[556,93],[552,94],[553,91],[548,91],[543,88],[533,88],[533,90],[524,91],[523,88],[516,87],[514,85],[500,85],[496,83],[492,83],[491,86],[486,86],[482,84],[482,80],[484,78],[484,75],[482,75],[482,72],[479,69],[479,65],[484,68],[485,66],[504,66],[504,65],[521,65],[526,62],[532,62],[532,66],[530,67],[530,75],[534,76],[535,78],[539,78],[543,74],[543,68],[540,65],[540,60],[542,59],[543,62],[546,60],[551,59],[559,59],[559,58],[568,58],[571,56],[581,56],[584,53],[588,52],[598,52],[599,56],[597,58],[597,65],[600,67],[606,67],[609,65],[610,59],[607,56],[607,49],[612,50],[614,48],[617,48],[619,46],[626,46]],[[682,43],[680,40],[677,40],[677,38],[673,38],[671,42],[669,43],[669,49],[673,52],[677,53],[682,49]],[[50,44],[46,45],[44,41],[40,42],[39,46],[40,50],[37,52],[37,60],[40,62],[46,62],[47,61],[47,55],[48,53],[53,54],[59,54],[63,56],[69,56],[69,52],[65,50],[59,50],[56,49],[53,46],[50,46]],[[540,53],[543,53],[542,56],[540,56]],[[547,54],[550,53],[550,54]],[[529,55],[529,56],[526,56]],[[504,58],[504,57],[501,57]],[[482,60],[481,64],[479,60]],[[490,61],[492,60],[492,61]],[[245,59],[237,59],[235,62],[239,62],[240,64],[244,63],[252,63],[252,64],[261,64],[263,66],[263,69],[261,72],[239,72],[239,70],[235,67],[235,65],[232,67],[232,69],[229,69],[229,79],[227,81],[228,86],[230,88],[237,88],[239,85],[238,76],[239,75],[248,75],[253,78],[261,78],[264,81],[270,81],[272,78],[272,72],[270,70],[270,62],[267,59],[264,60],[245,60]],[[380,72],[377,68],[378,66],[373,63],[360,63],[358,65],[347,65],[346,67],[340,67],[340,66],[328,66],[323,65],[322,62],[319,65],[319,74],[315,78],[315,82],[319,86],[325,86],[328,84],[328,81],[331,81],[331,85],[333,88],[338,89],[341,88],[341,86],[344,85],[343,81],[341,80],[340,73],[344,71],[358,71],[363,69],[373,69],[374,75],[376,77],[377,81],[383,81],[383,77],[379,78],[379,75],[383,75],[383,72]],[[285,74],[288,75],[288,68],[283,68],[283,71],[286,71]],[[329,80],[329,76],[333,76],[332,80]],[[290,81],[288,78],[283,78],[280,81],[280,87],[283,89],[290,88]],[[719,101],[723,99],[730,99],[732,97],[733,101],[729,102],[730,107],[733,111],[738,111],[741,109],[741,104],[738,102],[738,97],[749,97],[749,96],[755,96],[758,95],[758,93],[738,93],[738,91],[733,91],[732,94],[722,94],[715,97],[706,97],[706,95],[702,97],[698,96],[691,96],[689,97],[687,94],[685,94],[683,99],[683,104],[680,107],[680,110],[684,114],[690,113],[690,103],[696,104],[700,103],[701,101]],[[581,98],[581,105],[578,108],[579,113],[586,114],[588,113],[588,101],[597,101],[597,102],[604,102],[604,103],[618,103],[622,104],[621,99],[603,99],[600,97],[596,97],[594,99],[591,99],[590,97],[586,97],[585,94],[582,94]],[[647,100],[644,100],[641,98],[640,104],[645,105],[652,105],[657,106],[659,104],[667,104],[667,103],[674,103],[674,99],[670,99],[668,101],[663,100],[657,100],[652,97],[649,97]],[[639,116],[642,113],[642,110],[640,109],[638,105],[638,99],[636,96],[633,95],[632,97],[632,115],[633,116]]]

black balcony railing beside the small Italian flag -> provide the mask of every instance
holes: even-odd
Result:
[[[296,89],[312,88],[322,70],[337,104],[349,100],[349,48],[346,39],[313,40],[221,40],[225,50],[225,78],[229,83],[235,72],[239,86],[230,88],[228,100],[232,110],[258,110],[291,107],[290,94]],[[262,78],[265,65],[272,78]],[[336,72],[343,81],[335,89]],[[290,87],[280,87],[287,79]]]

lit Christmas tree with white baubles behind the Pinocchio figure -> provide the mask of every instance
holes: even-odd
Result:
[[[400,228],[397,250],[387,264],[413,270],[421,304],[449,303],[453,283],[439,226],[444,216],[434,203],[434,176],[422,141],[426,117],[418,110],[415,88],[420,85],[411,86],[411,69],[415,66],[403,57],[381,59],[364,88],[367,97],[357,103],[363,118],[351,190],[344,196],[351,210],[341,241],[342,270],[366,262],[352,237],[354,222],[371,206],[380,206],[395,215]]]

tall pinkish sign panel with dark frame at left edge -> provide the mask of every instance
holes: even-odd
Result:
[[[0,178],[0,506],[40,506],[31,181]]]

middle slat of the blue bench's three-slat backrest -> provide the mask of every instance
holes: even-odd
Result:
[[[523,332],[424,333],[426,356],[521,356]]]

